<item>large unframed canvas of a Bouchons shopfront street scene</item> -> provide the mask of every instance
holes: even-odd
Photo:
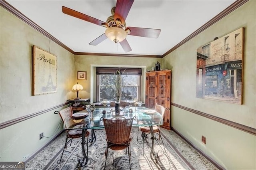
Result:
[[[197,49],[196,97],[242,104],[244,28]]]

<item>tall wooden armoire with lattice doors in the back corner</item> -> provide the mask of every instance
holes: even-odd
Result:
[[[146,73],[145,106],[155,108],[156,103],[170,108],[171,103],[171,70]],[[171,129],[171,113],[166,110],[162,127]]]

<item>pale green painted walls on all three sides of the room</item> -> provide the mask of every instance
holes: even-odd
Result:
[[[142,67],[145,71],[160,61],[161,69],[172,69],[172,102],[256,128],[256,1],[250,0],[163,59],[73,55],[0,7],[0,123],[64,103],[76,96],[95,101],[95,67]],[[196,49],[238,28],[245,27],[244,104],[235,105],[196,98]],[[166,43],[166,42],[165,42]],[[32,45],[57,56],[57,93],[32,96]],[[87,80],[77,80],[77,71],[87,71]],[[11,88],[10,88],[11,87]],[[142,91],[144,93],[144,91]],[[56,109],[60,110],[62,107]],[[55,110],[54,110],[55,111]],[[62,129],[54,111],[0,130],[0,161],[22,161],[40,149]],[[198,149],[226,169],[256,169],[256,136],[171,107],[172,127]],[[39,140],[39,133],[45,136]],[[202,144],[201,136],[207,138]]]

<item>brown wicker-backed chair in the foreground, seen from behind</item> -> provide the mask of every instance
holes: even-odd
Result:
[[[130,119],[104,119],[103,120],[104,127],[106,130],[106,141],[107,141],[107,148],[105,151],[105,166],[108,158],[108,148],[112,150],[123,150],[128,149],[128,156],[129,156],[129,164],[131,169],[130,157],[130,142],[132,138],[130,137],[131,129],[132,129],[132,122],[136,120],[136,117]],[[127,154],[127,150],[126,150]]]

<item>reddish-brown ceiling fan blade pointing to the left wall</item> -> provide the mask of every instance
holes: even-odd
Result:
[[[65,7],[65,6],[62,6],[62,12],[63,12],[64,14],[67,14],[67,15],[70,15],[70,16],[74,16],[74,17],[76,17],[76,18],[79,18],[79,19],[81,19],[81,20],[85,20],[85,21],[91,22],[91,23],[96,24],[96,25],[99,25],[99,26],[102,26],[102,23],[105,23],[105,24],[106,24],[106,22],[103,22],[103,21],[101,21],[101,20],[98,20],[98,19],[96,19],[96,18],[93,18],[93,17],[91,17],[91,16],[88,16],[88,15],[86,15],[86,14],[82,14],[81,12],[77,12],[77,11],[72,10],[72,9],[70,9],[70,8],[67,8],[67,7]]]

